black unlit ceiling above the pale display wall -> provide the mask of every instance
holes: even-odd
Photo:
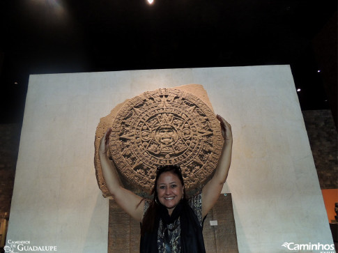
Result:
[[[0,123],[22,122],[30,74],[59,72],[290,64],[302,109],[330,108],[314,40],[330,20],[337,38],[337,0],[1,0],[0,15]]]

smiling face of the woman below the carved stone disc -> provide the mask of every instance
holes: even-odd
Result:
[[[169,215],[183,197],[183,185],[180,183],[180,178],[171,171],[163,172],[158,178],[158,200],[167,207]]]

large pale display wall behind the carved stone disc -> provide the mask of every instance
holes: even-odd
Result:
[[[203,85],[215,113],[232,125],[222,192],[231,192],[239,252],[333,244],[289,66],[31,75],[7,240],[107,252],[96,126],[128,98],[183,84]]]

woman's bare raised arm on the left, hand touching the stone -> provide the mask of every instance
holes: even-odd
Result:
[[[141,222],[144,212],[144,200],[121,185],[117,171],[107,157],[110,132],[112,132],[112,128],[108,128],[105,132],[98,150],[103,178],[105,178],[107,188],[118,206],[121,206],[135,220]]]

